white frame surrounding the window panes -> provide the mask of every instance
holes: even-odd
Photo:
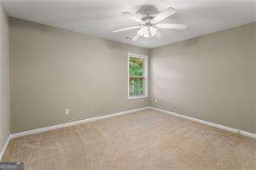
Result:
[[[135,96],[135,97],[130,97],[130,66],[129,66],[129,61],[130,58],[139,58],[139,59],[144,59],[144,79],[145,79],[145,94],[143,96]],[[128,99],[138,99],[138,98],[148,98],[148,84],[149,84],[149,79],[148,79],[148,63],[149,63],[149,57],[146,55],[142,54],[131,54],[128,53],[127,56],[127,87],[128,87]]]

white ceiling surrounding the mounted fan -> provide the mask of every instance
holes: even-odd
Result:
[[[9,16],[71,29],[140,47],[158,47],[206,35],[222,29],[256,22],[256,0],[0,0]],[[138,25],[121,12],[137,13],[150,5],[158,11],[173,7],[178,12],[163,22],[185,23],[186,30],[161,29],[163,38],[131,41],[136,29],[112,33],[113,29]],[[139,16],[139,14],[138,14]]]

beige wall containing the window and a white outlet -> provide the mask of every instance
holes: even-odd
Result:
[[[13,133],[149,105],[126,82],[127,53],[147,49],[14,18],[10,42]]]

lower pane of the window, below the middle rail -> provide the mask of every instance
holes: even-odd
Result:
[[[130,84],[130,96],[143,96],[145,90],[145,79],[144,78],[132,78],[129,80]]]

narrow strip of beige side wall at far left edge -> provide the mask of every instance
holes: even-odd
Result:
[[[8,16],[0,3],[0,153],[10,134],[10,56]]]

